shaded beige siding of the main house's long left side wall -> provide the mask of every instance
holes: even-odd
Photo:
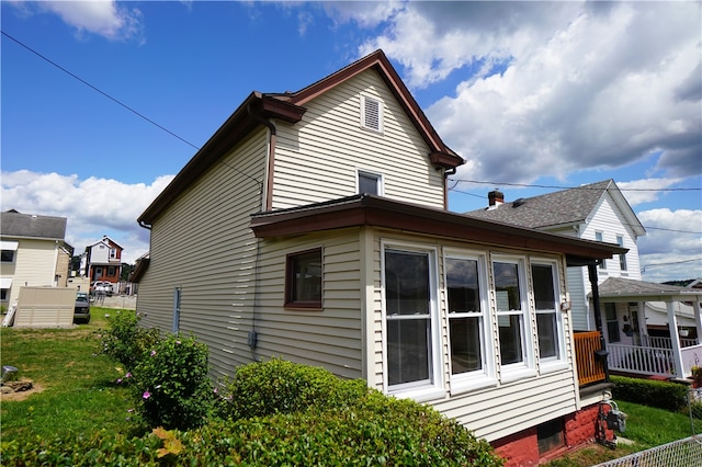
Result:
[[[261,210],[267,130],[260,128],[214,164],[159,216],[150,263],[139,284],[144,326],[170,331],[180,287],[178,329],[210,346],[213,376],[253,355],[247,345],[254,306],[257,240],[250,215]],[[254,179],[254,180],[253,180]]]

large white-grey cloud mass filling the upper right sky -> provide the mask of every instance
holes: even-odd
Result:
[[[531,182],[661,152],[702,173],[700,3],[409,2],[382,47],[411,88],[456,82],[427,110],[472,163],[458,176]],[[468,173],[469,171],[469,173]]]

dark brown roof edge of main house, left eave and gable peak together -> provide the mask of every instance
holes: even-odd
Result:
[[[429,147],[428,157],[431,162],[444,169],[454,169],[463,164],[463,158],[441,140],[383,50],[376,50],[296,92],[261,93],[253,91],[154,200],[137,221],[141,226],[148,227],[192,182],[224,157],[241,138],[257,126],[265,124],[267,119],[276,118],[287,123],[297,123],[306,112],[304,105],[307,102],[369,69],[377,71],[407,113],[410,122]]]

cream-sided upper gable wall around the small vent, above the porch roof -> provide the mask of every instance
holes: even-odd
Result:
[[[362,94],[383,102],[383,133],[360,126]],[[302,122],[276,124],[273,208],[353,195],[359,169],[382,174],[387,197],[444,207],[443,171],[376,71],[305,106]]]

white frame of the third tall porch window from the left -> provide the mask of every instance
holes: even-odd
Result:
[[[494,254],[490,258],[490,269],[492,273],[492,293],[495,294],[495,326],[498,331],[496,334],[498,337],[496,354],[498,355],[499,366],[500,366],[500,381],[509,383],[511,380],[521,379],[525,377],[536,376],[536,363],[534,358],[534,330],[531,319],[531,311],[529,307],[529,296],[530,289],[526,287],[526,262],[524,261],[524,257],[513,257],[513,255],[501,255]],[[506,264],[516,264],[518,272],[518,287],[520,295],[520,310],[500,310],[497,298],[497,289],[496,289],[496,275],[495,275],[495,263],[506,263]],[[522,345],[522,360],[521,362],[502,364],[502,356],[500,352],[499,345],[499,321],[500,318],[508,318],[511,316],[518,316],[521,318],[521,329],[520,329],[520,340]]]

